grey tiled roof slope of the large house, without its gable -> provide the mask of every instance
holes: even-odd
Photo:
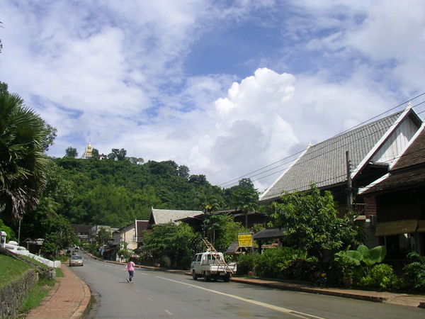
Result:
[[[260,201],[276,200],[283,191],[305,191],[310,189],[312,181],[319,188],[343,183],[346,181],[346,151],[350,152],[352,167],[358,167],[402,112],[307,147],[292,167],[260,196]]]

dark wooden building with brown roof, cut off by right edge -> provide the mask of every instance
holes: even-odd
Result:
[[[391,247],[390,257],[402,258],[411,250],[425,255],[424,125],[389,172],[359,194],[366,214],[376,216],[375,237]]]

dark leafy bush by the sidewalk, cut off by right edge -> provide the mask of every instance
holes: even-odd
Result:
[[[412,262],[403,268],[403,288],[412,291],[425,291],[425,257],[411,252],[407,254]]]

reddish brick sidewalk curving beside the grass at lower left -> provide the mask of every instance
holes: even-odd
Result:
[[[64,277],[57,278],[49,295],[26,318],[81,318],[90,302],[89,287],[67,264],[61,266]]]

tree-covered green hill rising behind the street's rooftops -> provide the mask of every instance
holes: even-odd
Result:
[[[151,207],[203,210],[209,200],[216,209],[229,209],[234,190],[211,186],[204,175],[189,175],[188,167],[173,161],[63,157],[52,159],[50,175],[47,196],[60,203],[58,213],[70,223],[112,227],[147,220]]]

